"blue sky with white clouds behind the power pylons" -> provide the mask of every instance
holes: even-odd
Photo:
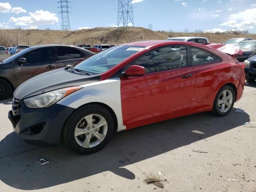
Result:
[[[71,30],[117,25],[118,0],[69,0]],[[0,28],[61,30],[58,0],[0,0]],[[132,0],[134,26],[256,33],[256,0]]]

